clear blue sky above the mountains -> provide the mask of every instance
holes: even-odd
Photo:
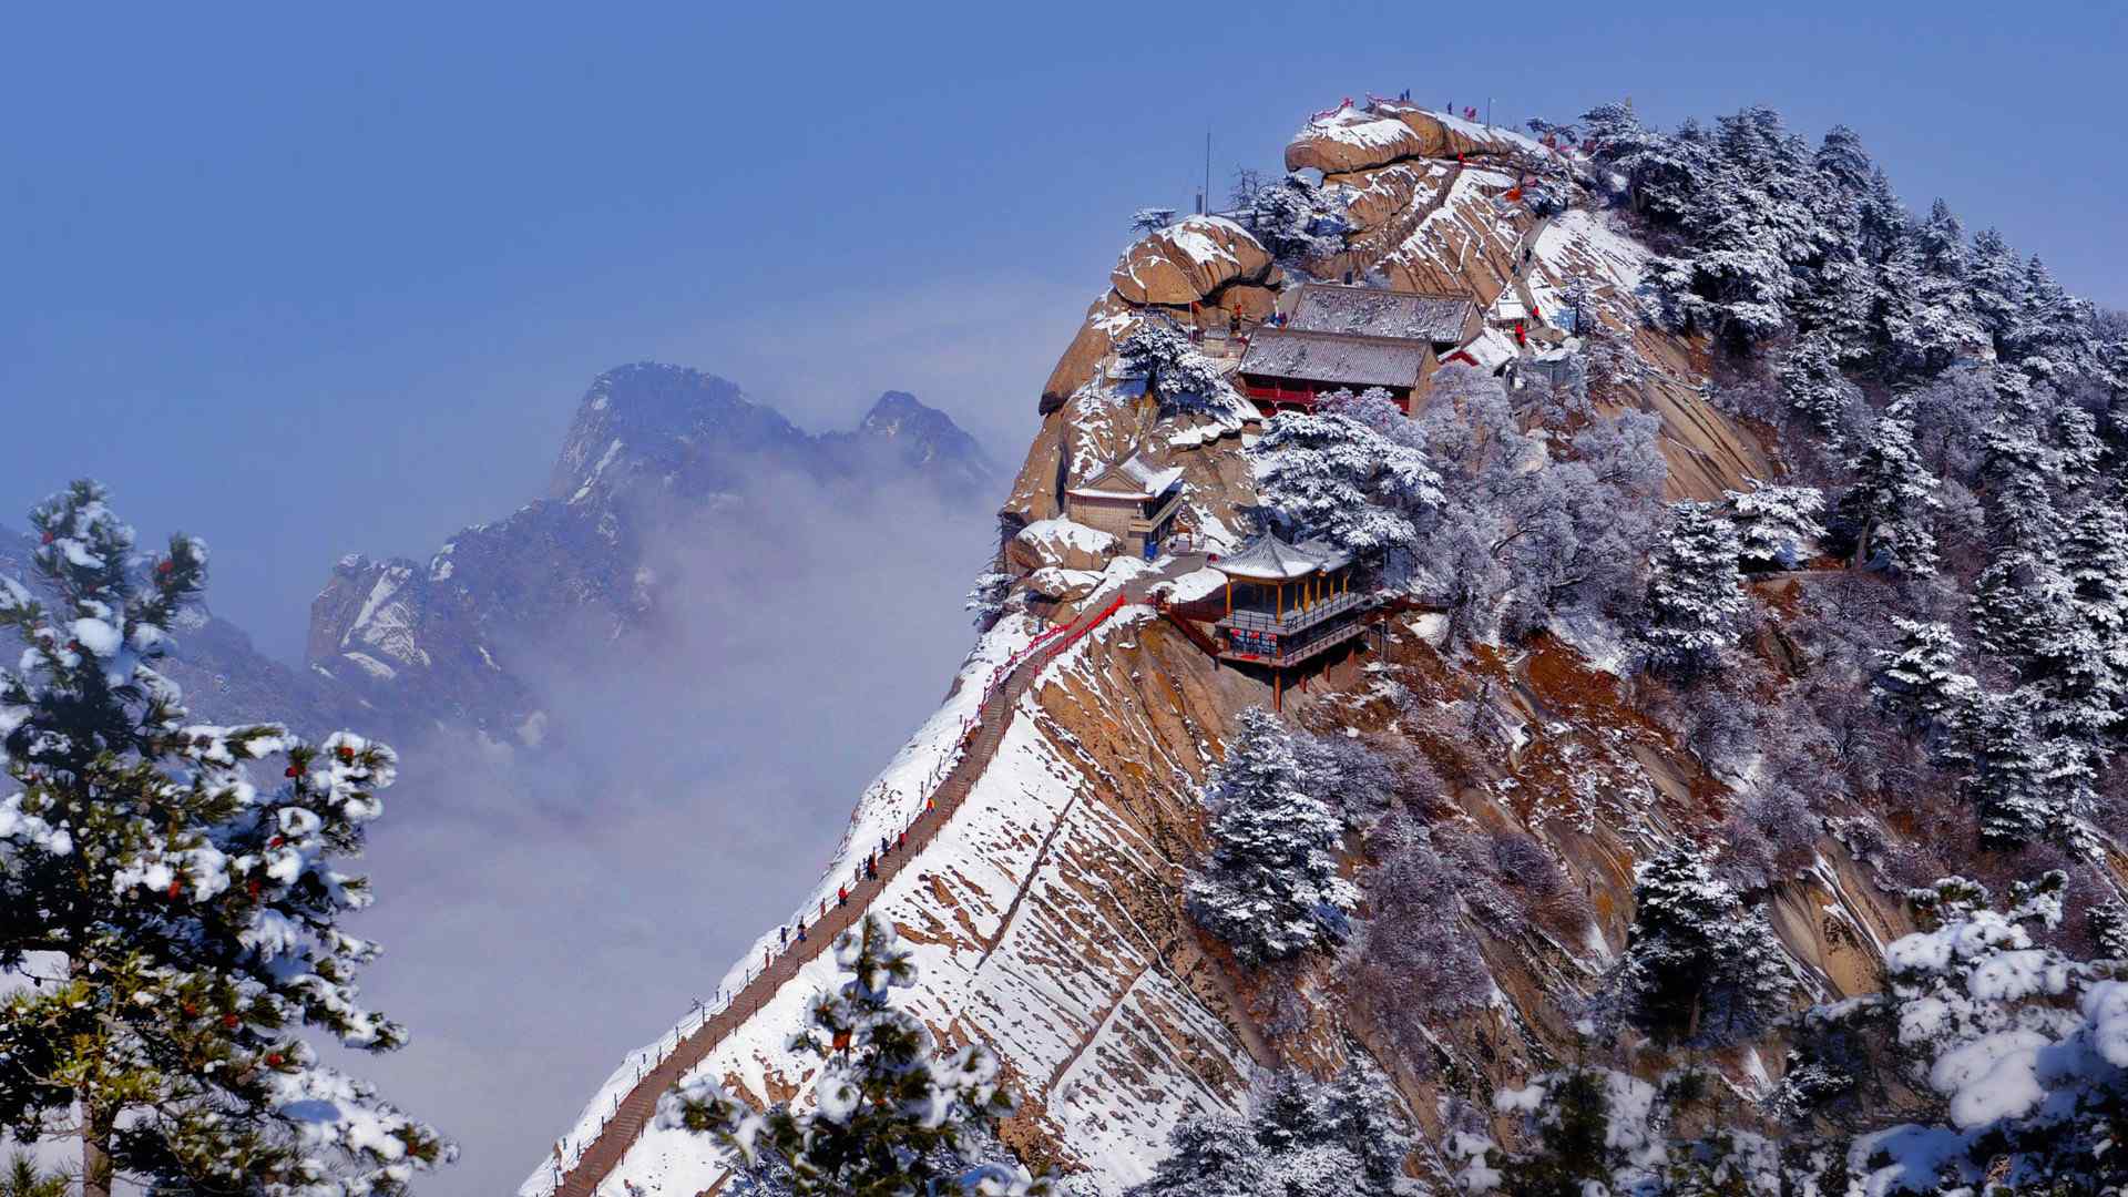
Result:
[[[532,498],[585,381],[885,388],[1017,458],[1138,204],[1345,94],[1845,119],[2128,305],[2119,6],[134,6],[11,15],[0,520],[70,475],[292,656],[334,556]]]

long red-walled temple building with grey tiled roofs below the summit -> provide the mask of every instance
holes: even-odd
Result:
[[[1328,392],[1368,388],[1413,411],[1441,354],[1481,328],[1477,305],[1462,296],[1302,283],[1292,315],[1251,334],[1238,388],[1266,415],[1311,411]]]

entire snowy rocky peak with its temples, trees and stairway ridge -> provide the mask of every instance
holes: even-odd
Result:
[[[1615,104],[1532,130],[1343,104],[1283,179],[1124,249],[1030,388],[979,643],[785,924],[819,920],[813,941],[764,933],[526,1197],[728,1191],[732,1157],[651,1112],[681,1080],[813,1101],[785,1039],[834,982],[849,905],[913,946],[904,1005],[996,1052],[1019,1099],[1002,1146],[1068,1193],[1198,1193],[1187,1152],[1262,1116],[1266,1076],[1356,1067],[1417,1129],[1398,1171],[1441,1193],[1522,1167],[1500,1144],[1543,1125],[1556,1082],[1517,1086],[1598,1048],[1643,1118],[1632,1071],[1688,1061],[1792,1101],[1779,1016],[1875,993],[1888,946],[1930,924],[1932,873],[2062,865],[2081,901],[2117,888],[2115,850],[2073,835],[2032,846],[2026,824],[2013,858],[1971,816],[1924,831],[1898,786],[1956,790],[1960,767],[1885,714],[1919,682],[1877,673],[1907,660],[1892,611],[1941,609],[1985,560],[1992,501],[1949,498],[1981,456],[1954,445],[2054,364],[2013,319],[1945,332],[1956,313],[1917,296],[1947,285],[1858,241],[1896,200],[1845,130],[1815,160],[1762,109],[1719,136]],[[1770,258],[1745,270],[1747,249]],[[2081,411],[2058,420],[2117,437],[2117,413]],[[1873,490],[1917,454],[1949,462],[1962,564]],[[1285,767],[1341,818],[1290,860],[1315,897],[1266,931],[1262,895],[1221,886],[1249,835],[1298,835],[1236,814]],[[1707,929],[1719,948],[1675,948]],[[1664,969],[1705,988],[1664,1007]]]

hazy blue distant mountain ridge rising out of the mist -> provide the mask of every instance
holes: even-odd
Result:
[[[641,628],[658,607],[647,543],[715,543],[775,479],[855,501],[983,503],[1002,475],[949,415],[885,392],[851,430],[811,434],[702,371],[636,362],[585,390],[547,494],[475,524],[428,560],[347,554],[311,603],[306,669],[187,611],[166,671],[196,718],[289,720],[304,733],[434,726],[536,745],[545,716],[513,654],[570,630]],[[0,528],[0,575],[36,588],[34,543]]]

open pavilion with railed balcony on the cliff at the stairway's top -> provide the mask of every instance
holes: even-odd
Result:
[[[1381,594],[1353,586],[1351,554],[1321,541],[1290,545],[1264,532],[1213,560],[1226,575],[1226,616],[1215,624],[1219,660],[1270,669],[1273,703],[1285,701],[1285,671],[1360,637]]]

